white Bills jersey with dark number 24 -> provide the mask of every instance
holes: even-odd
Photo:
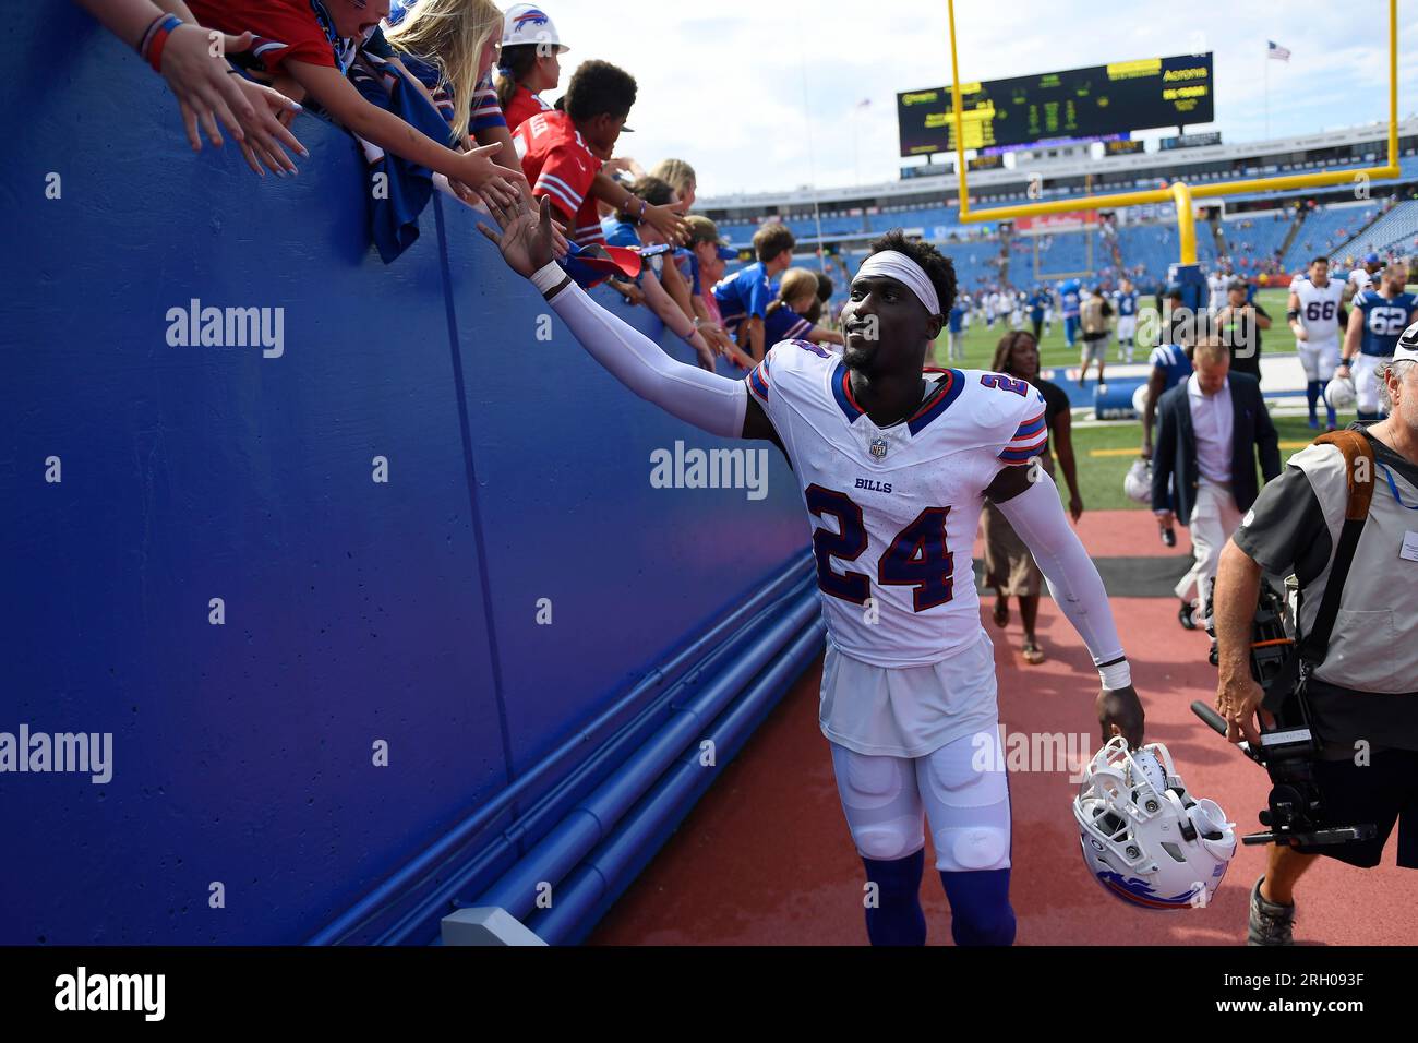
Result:
[[[813,529],[832,644],[879,667],[939,663],[978,640],[971,551],[984,488],[1048,440],[1024,380],[946,370],[903,421],[878,427],[845,363],[781,341],[746,377],[787,451]]]

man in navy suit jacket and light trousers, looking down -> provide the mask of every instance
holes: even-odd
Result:
[[[1231,372],[1231,352],[1215,336],[1197,342],[1193,363],[1195,372],[1157,403],[1153,451],[1153,514],[1164,529],[1174,519],[1191,528],[1195,561],[1177,583],[1183,626],[1193,622],[1197,607],[1210,620],[1221,549],[1261,491],[1256,454],[1265,481],[1280,474],[1280,440],[1259,382],[1249,373]],[[1193,583],[1194,603],[1185,600]]]

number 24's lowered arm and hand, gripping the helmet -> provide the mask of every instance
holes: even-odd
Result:
[[[1123,735],[1130,745],[1141,745],[1143,707],[1133,690],[1123,643],[1117,639],[1107,590],[1064,517],[1054,480],[1037,464],[1005,467],[990,482],[986,495],[1029,548],[1049,582],[1049,593],[1093,657],[1102,680],[1096,707],[1103,741]]]

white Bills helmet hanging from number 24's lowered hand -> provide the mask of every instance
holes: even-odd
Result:
[[[1193,800],[1160,742],[1109,739],[1073,799],[1083,864],[1110,894],[1149,910],[1207,905],[1236,851],[1235,823]]]

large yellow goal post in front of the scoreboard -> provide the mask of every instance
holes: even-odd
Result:
[[[1078,210],[1113,210],[1143,203],[1176,203],[1177,231],[1181,247],[1181,264],[1197,264],[1197,228],[1193,214],[1194,199],[1215,199],[1242,192],[1279,192],[1282,189],[1313,189],[1329,184],[1344,184],[1357,180],[1383,180],[1398,177],[1398,0],[1388,0],[1388,163],[1385,166],[1360,170],[1327,170],[1324,173],[1283,175],[1279,177],[1251,177],[1241,182],[1217,182],[1197,184],[1173,182],[1166,189],[1143,192],[1117,192],[1107,196],[1081,196],[1049,203],[1021,203],[1018,206],[970,209],[968,170],[966,165],[964,118],[960,105],[960,64],[956,54],[956,3],[947,0],[950,11],[950,106],[956,125],[956,173],[960,179],[960,221],[1003,221],[1015,217],[1037,217],[1042,214],[1073,213]]]

